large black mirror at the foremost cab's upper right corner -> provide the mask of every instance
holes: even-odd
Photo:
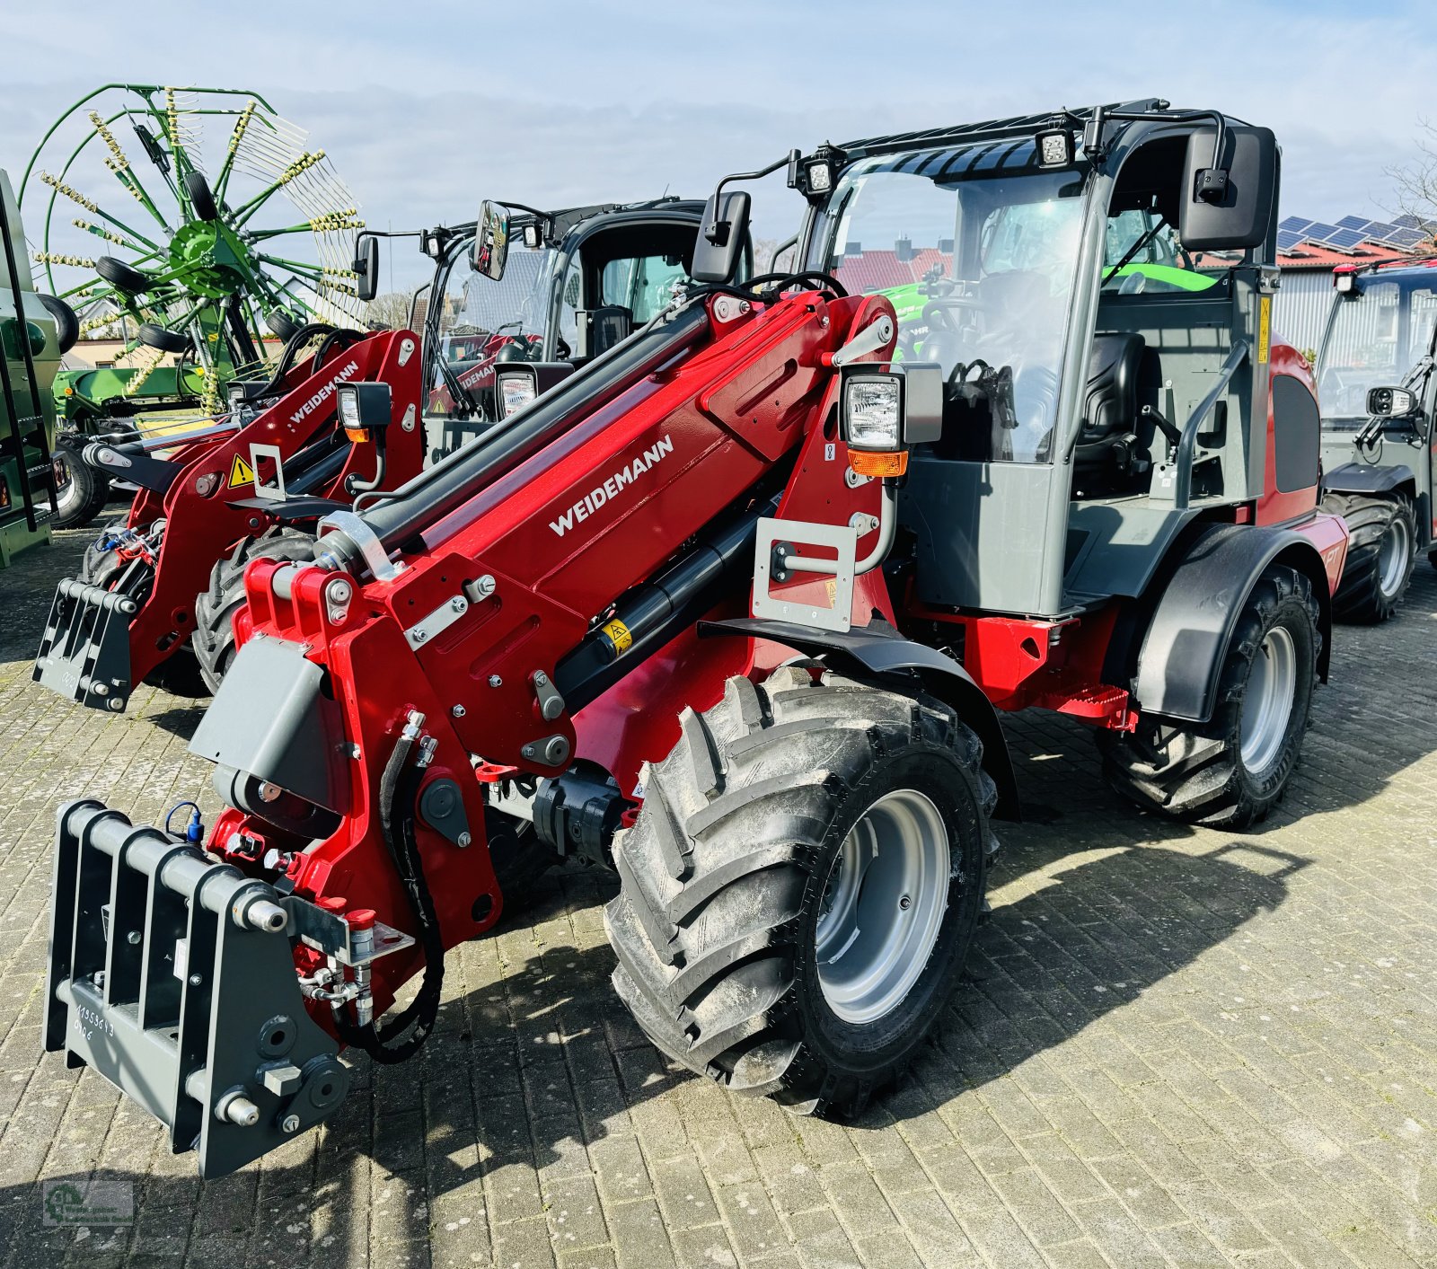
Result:
[[[1187,138],[1177,234],[1188,252],[1262,246],[1277,197],[1277,138],[1267,128],[1224,122]]]

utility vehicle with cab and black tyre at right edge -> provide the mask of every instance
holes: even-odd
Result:
[[[1323,504],[1346,517],[1352,546],[1335,606],[1392,615],[1417,550],[1431,558],[1437,262],[1334,273],[1318,354]]]

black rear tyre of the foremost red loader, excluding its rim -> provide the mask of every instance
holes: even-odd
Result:
[[[1298,648],[1298,681],[1288,734],[1262,780],[1242,766],[1240,720],[1253,657],[1273,625],[1306,631]],[[1213,719],[1191,723],[1140,719],[1138,730],[1099,732],[1108,783],[1145,811],[1211,828],[1247,828],[1286,793],[1312,717],[1321,644],[1318,601],[1306,575],[1269,565],[1249,594],[1217,681]]]

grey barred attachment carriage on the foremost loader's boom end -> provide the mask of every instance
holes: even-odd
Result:
[[[46,1051],[139,1102],[175,1154],[198,1150],[203,1177],[315,1127],[349,1072],[305,1012],[296,903],[101,802],[62,806]]]

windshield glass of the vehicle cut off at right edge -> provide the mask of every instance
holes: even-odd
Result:
[[[1341,300],[1318,358],[1322,423],[1352,431],[1368,420],[1368,388],[1392,388],[1431,351],[1437,277],[1364,279],[1355,300]]]

